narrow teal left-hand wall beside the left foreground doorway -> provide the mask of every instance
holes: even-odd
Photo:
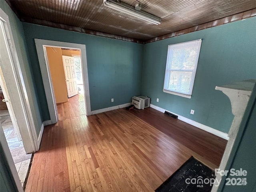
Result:
[[[17,18],[17,16],[14,14],[14,12],[11,10],[9,5],[3,1],[0,0],[0,8],[8,15],[10,26],[12,30],[12,35],[15,42],[15,47],[18,54],[18,59],[20,62],[20,66],[23,66],[24,70],[22,71],[24,78],[28,80],[28,83],[25,84],[26,88],[29,88],[31,91],[31,102],[34,104],[34,108],[32,109],[32,115],[34,118],[35,126],[36,126],[36,133],[37,136],[39,136],[40,129],[42,126],[42,114],[40,113],[40,100],[38,98],[38,94],[36,92],[36,84],[34,83],[34,76],[31,71],[30,66],[30,60],[28,57],[28,49],[26,45],[26,40],[24,36],[24,30],[22,23]]]

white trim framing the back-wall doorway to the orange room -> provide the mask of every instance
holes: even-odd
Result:
[[[44,39],[35,39],[35,44],[36,44],[36,52],[38,56],[40,70],[42,74],[42,80],[44,84],[44,90],[46,94],[47,105],[50,113],[51,123],[54,124],[58,121],[58,112],[57,112],[56,101],[54,97],[54,91],[53,91],[53,86],[52,86],[52,81],[50,76],[50,67],[48,64],[48,59],[46,57],[45,46],[80,50],[81,61],[82,61],[82,75],[84,79],[84,95],[85,95],[84,98],[86,103],[86,115],[87,116],[91,115],[88,68],[87,68],[87,59],[86,59],[86,46],[84,44],[59,42],[59,41],[51,41],[51,40],[44,40]]]

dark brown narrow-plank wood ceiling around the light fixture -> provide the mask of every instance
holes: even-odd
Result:
[[[6,0],[21,21],[146,41],[256,8],[256,0],[140,0],[160,25],[107,8],[103,0]],[[134,6],[137,0],[122,0]],[[255,10],[253,10],[253,15]],[[67,27],[68,26],[68,27]],[[99,34],[100,35],[100,34]],[[125,40],[125,39],[124,39]]]

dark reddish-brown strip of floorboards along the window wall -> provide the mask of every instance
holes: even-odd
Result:
[[[139,113],[135,110],[130,111],[170,138],[192,150],[196,153],[194,156],[197,156],[198,159],[201,159],[202,162],[208,164],[211,168],[216,168],[220,165],[227,140],[178,119],[170,118],[153,108],[140,110]]]

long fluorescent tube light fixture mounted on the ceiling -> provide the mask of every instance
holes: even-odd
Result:
[[[153,24],[160,24],[161,23],[161,18],[156,17],[152,14],[148,14],[147,12],[144,11],[137,11],[134,9],[134,7],[129,6],[128,4],[125,3],[119,3],[119,2],[115,2],[112,0],[103,0],[104,1],[104,5],[108,8],[112,8],[114,10],[126,13],[128,15],[134,16],[136,18],[142,19],[144,21],[153,23]]]

